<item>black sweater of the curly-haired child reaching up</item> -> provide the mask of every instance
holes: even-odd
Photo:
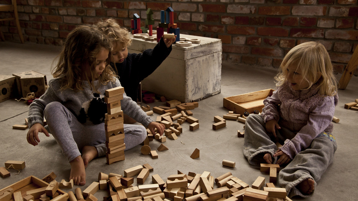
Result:
[[[130,53],[122,63],[116,63],[119,81],[127,96],[137,101],[139,82],[152,74],[170,52],[171,46],[167,48],[161,38],[153,49],[146,49],[140,54]]]

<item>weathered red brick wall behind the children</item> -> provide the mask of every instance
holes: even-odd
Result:
[[[0,0],[0,3],[10,0]],[[302,42],[321,40],[342,72],[358,44],[357,0],[17,0],[26,42],[61,45],[69,30],[101,17],[130,27],[134,13],[146,18],[171,6],[180,33],[222,40],[224,61],[278,67]],[[8,13],[1,12],[0,17]],[[20,41],[13,21],[1,22],[6,40]],[[141,20],[144,26],[144,20]],[[358,75],[358,70],[355,71]]]

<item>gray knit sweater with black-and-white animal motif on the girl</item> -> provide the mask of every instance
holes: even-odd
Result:
[[[69,109],[78,119],[79,122],[92,122],[93,124],[100,124],[105,121],[105,114],[107,113],[107,104],[104,102],[105,91],[114,87],[121,86],[119,80],[116,82],[108,82],[107,85],[100,85],[98,91],[100,94],[93,92],[87,82],[84,82],[85,88],[82,91],[74,91],[66,89],[61,91],[61,84],[64,82],[63,78],[52,79],[49,82],[49,87],[39,99],[35,99],[30,105],[28,125],[31,127],[35,123],[43,125],[44,109],[50,102],[61,102],[67,109]],[[98,85],[98,80],[94,82]],[[121,109],[125,114],[140,122],[147,127],[153,120],[136,104],[130,97],[123,94],[121,100]],[[104,128],[104,127],[103,127]]]

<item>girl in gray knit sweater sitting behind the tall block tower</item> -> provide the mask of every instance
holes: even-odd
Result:
[[[40,142],[38,132],[49,136],[43,126],[45,117],[50,133],[71,165],[69,179],[77,185],[86,184],[88,162],[107,151],[105,90],[121,86],[109,65],[110,50],[111,44],[101,31],[92,25],[77,26],[67,36],[49,88],[29,109],[27,141],[36,146]],[[121,109],[153,133],[156,128],[163,134],[164,125],[151,120],[126,94]],[[126,150],[144,141],[145,127],[124,125]]]

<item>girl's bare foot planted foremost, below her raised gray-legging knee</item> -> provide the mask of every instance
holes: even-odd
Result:
[[[84,170],[83,159],[81,156],[77,156],[71,162],[71,173],[69,179],[73,179],[73,183],[76,185],[86,184],[86,170]]]

